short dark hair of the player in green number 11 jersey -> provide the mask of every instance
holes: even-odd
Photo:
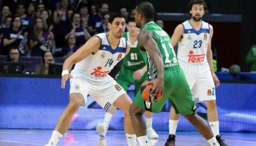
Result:
[[[137,5],[136,10],[141,13],[145,20],[154,19],[154,6],[149,2],[142,2]]]

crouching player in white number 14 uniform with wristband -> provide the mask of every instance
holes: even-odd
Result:
[[[123,38],[125,17],[113,13],[109,17],[109,32],[97,34],[89,39],[79,50],[64,62],[62,86],[70,79],[70,101],[58,119],[51,139],[47,145],[56,145],[71,124],[71,118],[80,106],[85,106],[90,95],[106,111],[111,105],[125,112],[125,132],[128,145],[136,145],[136,136],[131,126],[129,108],[131,98],[114,79],[108,75],[130,51],[130,43]],[[72,65],[76,64],[74,70]]]

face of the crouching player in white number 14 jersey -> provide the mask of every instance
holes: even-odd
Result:
[[[125,32],[125,18],[114,18],[112,24],[109,23],[109,30],[111,30],[114,37],[120,39]]]

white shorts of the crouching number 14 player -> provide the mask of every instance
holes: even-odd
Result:
[[[86,105],[90,95],[105,111],[113,105],[116,99],[126,91],[109,75],[106,77],[90,77],[79,72],[71,72],[71,87],[69,93],[81,93],[84,97],[82,106]]]

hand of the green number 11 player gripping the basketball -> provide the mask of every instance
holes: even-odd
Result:
[[[149,94],[151,95],[154,94],[154,96],[158,96],[158,97],[163,96],[163,84],[164,84],[163,78],[156,77],[156,79],[149,81],[149,83],[154,84],[154,88]]]

